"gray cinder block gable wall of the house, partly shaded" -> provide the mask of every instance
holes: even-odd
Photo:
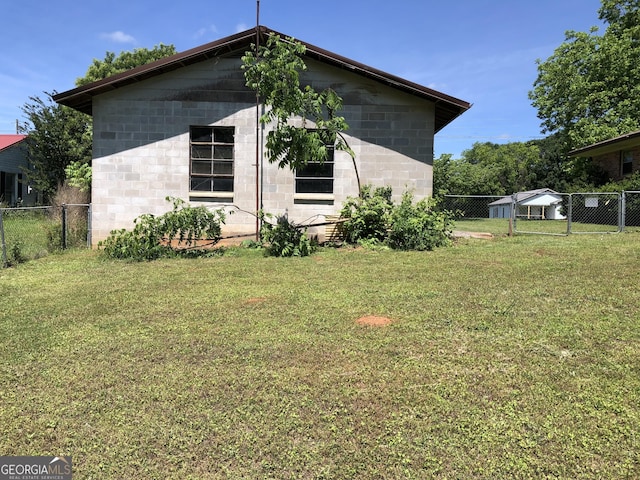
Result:
[[[361,183],[390,185],[396,199],[407,189],[417,198],[430,196],[433,103],[321,63],[307,64],[303,82],[318,90],[330,86],[344,99],[346,138]],[[225,234],[255,231],[255,94],[244,86],[239,59],[212,59],[100,95],[93,116],[94,242],[113,229],[132,228],[139,215],[166,212],[168,196],[189,200],[193,125],[235,127],[235,179],[228,202],[191,203],[224,208]],[[354,166],[344,152],[336,152],[334,194],[318,201],[295,197],[292,171],[266,159],[258,170],[264,209],[287,212],[298,222],[322,221],[358,194]]]

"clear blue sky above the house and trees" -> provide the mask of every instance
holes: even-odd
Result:
[[[527,93],[565,31],[601,26],[599,0],[261,0],[260,23],[473,103],[436,135],[435,155],[474,142],[541,138]],[[256,22],[256,0],[15,0],[2,8],[0,133],[29,96],[74,87],[107,51],[183,51]]]

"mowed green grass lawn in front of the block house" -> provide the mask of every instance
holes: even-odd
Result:
[[[639,260],[640,234],[524,235],[0,270],[0,452],[78,479],[638,478]]]

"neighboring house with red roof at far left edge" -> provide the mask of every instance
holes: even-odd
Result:
[[[0,203],[35,205],[37,195],[24,183],[23,169],[28,168],[27,151],[24,145],[26,135],[0,135]]]

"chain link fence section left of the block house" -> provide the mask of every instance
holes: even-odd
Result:
[[[90,246],[90,225],[88,204],[0,208],[1,266],[58,250]]]

